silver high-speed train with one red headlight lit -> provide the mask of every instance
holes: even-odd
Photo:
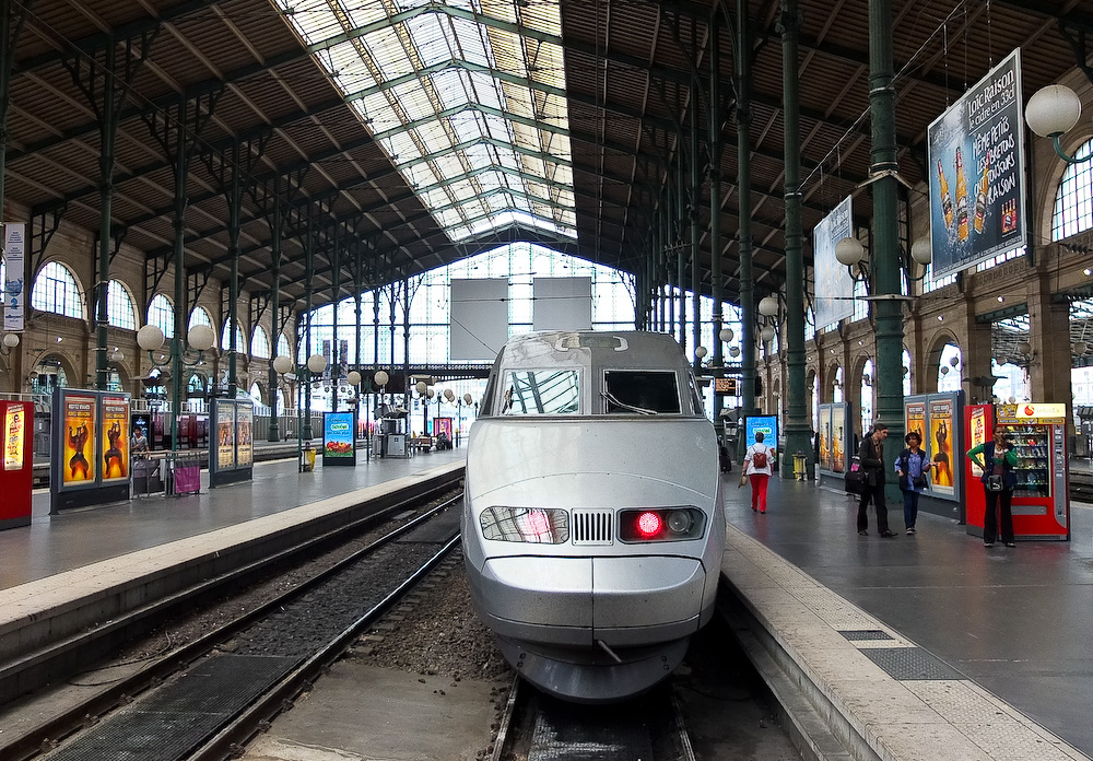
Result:
[[[471,429],[462,543],[475,610],[526,680],[603,703],[679,665],[715,604],[717,455],[672,337],[509,340]]]

